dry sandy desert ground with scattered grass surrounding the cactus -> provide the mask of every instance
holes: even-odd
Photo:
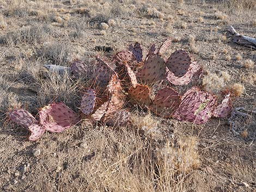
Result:
[[[230,25],[256,38],[255,1],[0,0],[1,191],[256,191],[256,51],[234,44]],[[145,57],[167,38],[163,57],[185,49],[203,67],[202,90],[235,92],[233,108],[249,114],[236,130],[230,115],[196,125],[131,104],[127,126],[84,119],[36,141],[10,121],[13,108],[37,115],[53,102],[81,113],[90,85],[44,65],[93,67],[96,55],[110,59],[135,42]]]

